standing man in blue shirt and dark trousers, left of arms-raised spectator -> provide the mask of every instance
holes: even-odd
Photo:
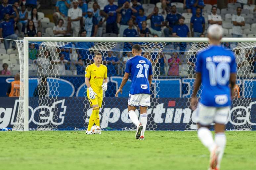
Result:
[[[107,24],[106,24],[106,33],[115,33],[116,35],[118,34],[118,27],[116,23],[116,10],[117,10],[117,5],[114,5],[114,0],[108,0],[109,4],[104,7],[104,12],[108,14],[107,18]]]

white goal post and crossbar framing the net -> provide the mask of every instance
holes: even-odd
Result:
[[[208,38],[125,38],[125,37],[24,37],[23,39],[23,130],[29,130],[29,42],[149,42],[149,43],[207,43]],[[222,38],[222,42],[229,43],[256,43],[256,38]],[[256,46],[255,46],[256,47]],[[22,52],[19,50],[19,52]],[[22,62],[22,61],[21,61]],[[21,95],[22,91],[20,91]]]

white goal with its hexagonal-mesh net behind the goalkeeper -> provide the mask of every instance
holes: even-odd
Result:
[[[133,44],[153,66],[148,130],[194,130],[197,117],[190,108],[198,51],[209,46],[207,38],[24,38],[17,41],[21,90],[16,130],[83,130],[92,113],[86,97],[85,68],[102,53],[108,68],[108,89],[100,109],[101,128],[135,129],[127,112],[131,81],[118,98],[125,63]],[[223,46],[234,51],[237,81],[226,122],[228,130],[255,130],[256,39],[223,38]],[[28,59],[28,60],[27,60]],[[203,88],[203,87],[201,87]],[[201,91],[198,92],[200,97]],[[139,111],[136,110],[139,116]]]

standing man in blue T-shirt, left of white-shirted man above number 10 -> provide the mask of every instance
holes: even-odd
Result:
[[[192,16],[190,19],[190,30],[192,37],[200,37],[204,33],[205,29],[205,20],[201,15],[201,9],[196,9],[195,16]]]

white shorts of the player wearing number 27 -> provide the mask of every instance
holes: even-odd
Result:
[[[128,105],[150,106],[150,94],[129,94]]]

